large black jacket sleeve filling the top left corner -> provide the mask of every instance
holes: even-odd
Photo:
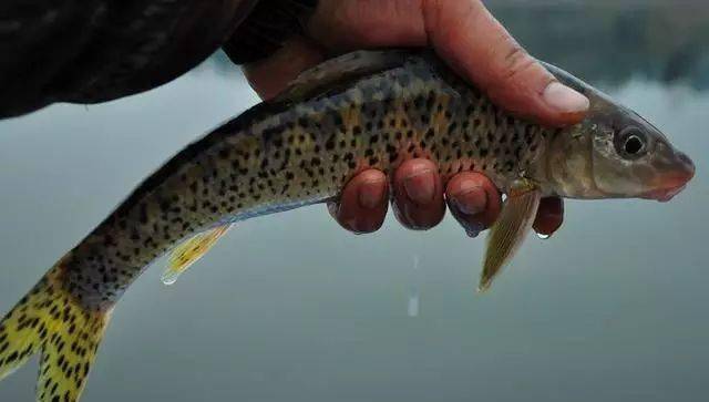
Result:
[[[0,118],[156,87],[224,44],[258,0],[0,0]]]

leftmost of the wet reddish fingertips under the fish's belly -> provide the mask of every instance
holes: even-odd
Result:
[[[389,206],[387,175],[377,169],[361,172],[342,189],[337,203],[328,203],[330,215],[345,229],[356,234],[378,230]]]

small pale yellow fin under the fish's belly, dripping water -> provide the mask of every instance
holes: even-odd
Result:
[[[202,256],[207,254],[232,226],[232,224],[227,224],[203,231],[175,247],[167,259],[167,268],[165,268],[162,277],[163,284],[175,284],[177,278]]]

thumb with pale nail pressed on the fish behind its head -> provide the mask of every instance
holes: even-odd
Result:
[[[547,125],[580,121],[588,100],[532,58],[479,0],[423,1],[429,41],[507,111]]]

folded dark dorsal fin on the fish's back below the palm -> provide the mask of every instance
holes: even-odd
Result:
[[[290,82],[275,101],[298,102],[335,86],[403,64],[408,50],[360,50],[327,60]]]

